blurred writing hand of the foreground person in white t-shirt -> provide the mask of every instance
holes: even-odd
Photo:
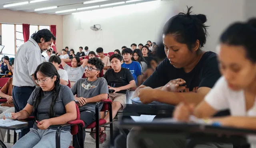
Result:
[[[180,103],[173,112],[173,118],[182,121],[188,122],[190,115],[194,112],[194,105],[188,105],[184,102]]]

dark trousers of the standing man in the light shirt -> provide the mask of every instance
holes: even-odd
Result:
[[[15,108],[15,112],[19,112],[24,109],[28,103],[28,99],[32,92],[36,87],[24,86],[24,87],[17,87],[14,86],[12,89],[12,99]],[[21,130],[19,133],[19,139],[22,138],[25,134],[30,131],[34,125],[34,121],[28,121],[28,128]]]

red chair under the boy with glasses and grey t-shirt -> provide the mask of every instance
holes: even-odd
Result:
[[[107,123],[104,119],[99,119],[99,105],[100,103],[103,103],[103,107],[100,110],[101,112],[109,111],[109,118],[110,122]],[[110,128],[110,144],[114,145],[114,137],[113,137],[113,121],[112,121],[112,101],[110,99],[104,99],[101,102],[97,102],[95,106],[95,116],[96,121],[92,124],[88,125],[86,129],[91,128],[91,132],[89,133],[95,133],[93,132],[93,128],[96,128],[96,148],[100,148],[100,127],[109,127]],[[106,126],[110,124],[110,126]],[[86,131],[87,132],[87,131]]]

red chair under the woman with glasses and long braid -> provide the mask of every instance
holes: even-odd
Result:
[[[80,145],[80,148],[84,148],[84,140],[83,140],[84,121],[80,120],[80,112],[77,105],[76,105],[76,120],[69,121],[67,124],[60,125],[56,130],[56,148],[60,148],[60,132],[62,128],[65,126],[71,126],[71,134],[73,135],[73,146],[76,140],[74,135],[78,134],[78,137],[79,137],[78,143]],[[69,148],[74,148],[73,146],[69,146]]]

